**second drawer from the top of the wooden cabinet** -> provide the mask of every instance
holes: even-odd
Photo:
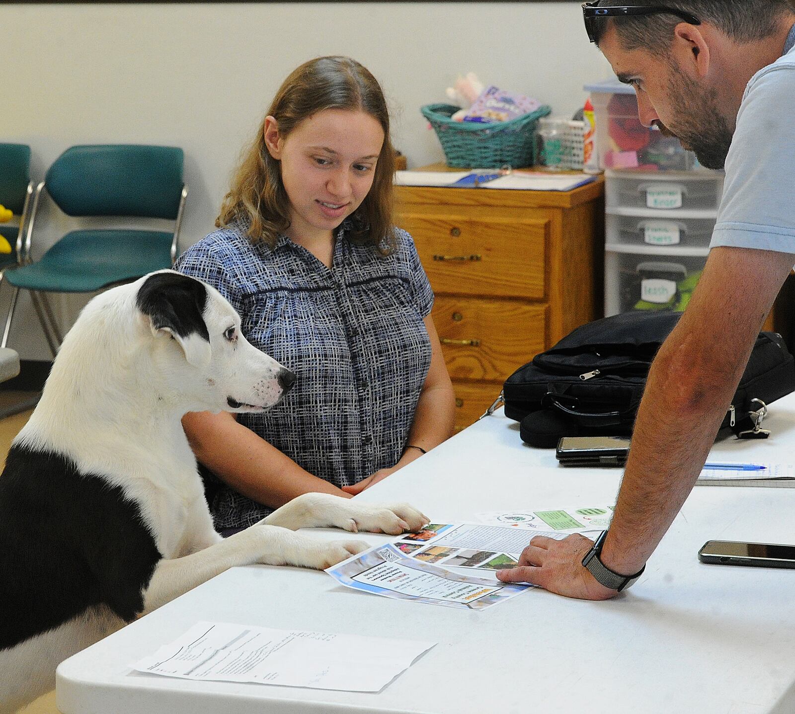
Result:
[[[546,305],[440,295],[433,321],[453,379],[504,380],[544,351]]]

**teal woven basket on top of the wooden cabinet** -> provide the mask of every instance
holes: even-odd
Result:
[[[431,122],[444,149],[447,165],[457,169],[518,169],[535,163],[536,123],[552,109],[544,106],[510,122],[454,122],[461,107],[426,104],[422,115]]]

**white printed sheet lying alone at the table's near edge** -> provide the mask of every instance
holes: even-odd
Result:
[[[202,622],[132,666],[183,679],[378,692],[435,644]]]

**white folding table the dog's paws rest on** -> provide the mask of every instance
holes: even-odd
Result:
[[[712,460],[795,461],[795,395],[771,406],[765,426],[769,440],[721,442]],[[526,447],[498,412],[359,498],[406,500],[434,522],[460,522],[491,510],[611,505],[619,478],[619,469],[558,467],[553,451]],[[793,712],[795,571],[696,557],[709,539],[795,543],[793,516],[795,488],[697,486],[642,579],[598,603],[532,589],[464,611],[354,592],[324,572],[233,568],[60,665],[57,705],[64,714]],[[199,620],[438,644],[377,694],[132,672]]]

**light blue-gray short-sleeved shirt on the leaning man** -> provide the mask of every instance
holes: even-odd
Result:
[[[795,27],[784,54],[751,77],[743,95],[715,246],[795,254]]]

